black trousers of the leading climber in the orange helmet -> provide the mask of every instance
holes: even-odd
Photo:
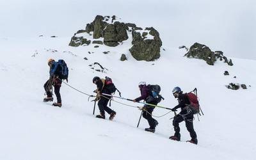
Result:
[[[49,80],[46,81],[46,83],[44,84],[44,90],[47,94],[47,97],[52,97],[52,93],[49,90],[49,87],[51,87],[49,85],[51,85],[51,84],[48,84],[48,83],[49,83]],[[61,103],[61,96],[60,96],[61,83],[62,83],[62,81],[60,79],[56,79],[55,82],[54,82],[54,93],[57,97],[57,102],[58,103]]]

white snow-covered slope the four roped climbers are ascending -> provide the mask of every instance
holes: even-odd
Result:
[[[168,46],[157,61],[136,61],[127,50],[130,40],[118,47],[76,48],[67,46],[70,37],[0,39],[0,159],[256,159],[254,60],[232,58],[232,67],[223,62],[209,66],[184,58],[184,51]],[[119,60],[122,53],[128,61]],[[173,113],[157,118],[159,125],[152,134],[143,131],[148,127],[143,118],[136,128],[138,109],[115,102],[113,122],[94,118],[93,102],[65,84],[62,108],[42,102],[49,58],[64,59],[70,70],[68,84],[90,94],[95,90],[94,76],[112,77],[122,96],[129,99],[138,97],[138,83],[147,81],[161,86],[165,100],[159,105],[172,108],[177,104],[173,87],[180,86],[184,92],[198,88],[205,113],[200,122],[194,122],[198,145],[185,142],[190,137],[184,123],[180,124],[182,141],[168,140],[174,133]],[[88,65],[94,62],[108,68],[107,72],[93,71]],[[223,76],[225,70],[230,76]],[[252,87],[228,90],[225,84],[231,82]],[[156,108],[154,115],[167,112]]]

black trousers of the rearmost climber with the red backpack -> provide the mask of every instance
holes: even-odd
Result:
[[[180,137],[179,123],[185,120],[186,127],[189,131],[192,140],[196,140],[196,132],[193,127],[193,112],[191,109],[181,111],[177,116],[173,118],[174,136]]]

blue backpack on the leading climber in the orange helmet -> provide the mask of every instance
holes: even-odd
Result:
[[[50,76],[54,76],[54,74],[58,75],[60,79],[68,79],[68,67],[64,60],[54,62],[54,68],[50,71]]]

